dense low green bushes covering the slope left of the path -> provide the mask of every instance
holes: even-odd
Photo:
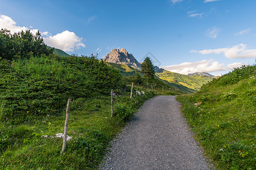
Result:
[[[122,87],[118,71],[94,56],[0,61],[1,115],[6,118],[56,113],[69,98],[107,95]]]

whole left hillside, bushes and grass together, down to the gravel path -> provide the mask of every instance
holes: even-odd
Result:
[[[109,142],[155,96],[134,90],[130,99],[130,91],[94,56],[0,58],[0,169],[97,169]],[[63,139],[54,136],[64,131],[68,98],[72,140],[60,154]]]

